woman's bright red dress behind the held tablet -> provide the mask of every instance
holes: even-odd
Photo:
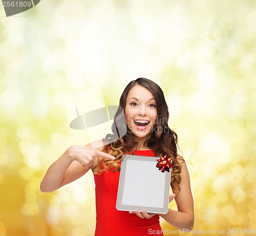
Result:
[[[135,151],[135,155],[151,156],[152,150]],[[143,236],[157,232],[163,235],[156,214],[150,219],[141,219],[136,214],[116,209],[116,198],[120,171],[103,171],[101,175],[94,175],[96,194],[96,229],[95,236]]]

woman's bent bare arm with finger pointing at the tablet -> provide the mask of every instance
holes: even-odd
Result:
[[[63,185],[73,182],[98,165],[98,158],[114,160],[109,154],[100,152],[101,147],[71,146],[48,168],[41,181],[42,192],[52,192]]]

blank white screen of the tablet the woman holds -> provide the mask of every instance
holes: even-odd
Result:
[[[163,207],[165,175],[154,162],[126,161],[122,204]]]

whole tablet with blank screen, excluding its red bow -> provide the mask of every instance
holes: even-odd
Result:
[[[170,173],[157,167],[159,157],[123,155],[116,209],[167,213]]]

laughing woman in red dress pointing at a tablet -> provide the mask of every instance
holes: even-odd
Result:
[[[170,130],[168,106],[161,88],[153,81],[138,78],[124,89],[120,104],[124,110],[127,133],[118,140],[105,144],[105,139],[85,147],[71,146],[47,170],[41,182],[41,191],[54,191],[92,169],[96,191],[95,235],[163,235],[159,216],[182,230],[194,225],[193,197],[184,159],[177,154],[177,134]],[[111,138],[108,135],[106,138]],[[109,142],[108,142],[109,143]],[[99,148],[92,148],[93,146]],[[170,185],[178,211],[151,214],[118,211],[115,208],[120,165],[123,154],[164,156],[172,158]]]

